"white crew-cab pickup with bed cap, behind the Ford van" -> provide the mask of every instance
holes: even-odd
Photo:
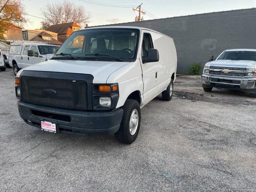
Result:
[[[21,68],[52,58],[59,47],[48,45],[46,42],[11,42],[9,65],[13,67],[13,72],[16,75]]]

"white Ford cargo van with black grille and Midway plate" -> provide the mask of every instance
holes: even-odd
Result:
[[[18,110],[44,131],[115,134],[130,144],[140,109],[160,93],[171,100],[176,68],[174,41],[159,32],[120,26],[75,31],[52,59],[18,72]]]

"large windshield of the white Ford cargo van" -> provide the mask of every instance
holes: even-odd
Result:
[[[73,60],[133,60],[136,58],[138,38],[137,29],[79,30],[68,37],[52,59],[71,59],[72,56]]]

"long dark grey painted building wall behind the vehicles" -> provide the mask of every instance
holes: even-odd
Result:
[[[226,49],[256,48],[256,8],[113,26],[145,27],[174,38],[178,55],[178,73],[188,73],[194,62],[202,62],[204,66],[209,55],[216,58]]]

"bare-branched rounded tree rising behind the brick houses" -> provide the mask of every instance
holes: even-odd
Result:
[[[50,25],[60,24],[62,22],[76,22],[77,24],[86,24],[90,22],[91,17],[90,12],[86,12],[83,6],[77,6],[69,0],[64,0],[63,3],[48,2],[44,8],[41,9],[41,12]]]

